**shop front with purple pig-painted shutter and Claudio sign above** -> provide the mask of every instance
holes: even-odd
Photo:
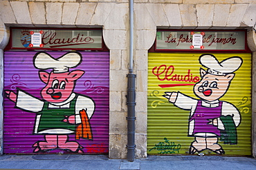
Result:
[[[3,153],[108,153],[109,51],[102,30],[10,31]]]

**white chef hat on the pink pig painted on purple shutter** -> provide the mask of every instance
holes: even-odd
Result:
[[[77,52],[68,52],[58,59],[54,59],[46,52],[39,52],[34,56],[34,65],[39,70],[53,69],[54,73],[68,72],[69,68],[80,65],[82,57]]]

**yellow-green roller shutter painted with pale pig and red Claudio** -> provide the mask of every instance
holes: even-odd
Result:
[[[201,56],[210,58],[201,61]],[[233,56],[235,60],[224,62]],[[149,53],[148,57],[148,154],[251,155],[251,54]],[[211,71],[204,63],[217,64],[211,61],[214,57],[218,67],[237,70],[207,74]],[[200,68],[205,70],[203,78]],[[211,95],[217,100],[210,100]]]

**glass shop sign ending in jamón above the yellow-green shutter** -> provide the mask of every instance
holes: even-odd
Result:
[[[163,31],[156,33],[156,50],[245,50],[245,32]]]

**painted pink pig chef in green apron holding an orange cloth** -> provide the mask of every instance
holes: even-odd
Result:
[[[17,94],[6,90],[8,98],[15,102],[18,108],[37,113],[34,133],[44,134],[45,140],[37,141],[33,145],[35,152],[65,149],[81,153],[82,146],[76,141],[68,141],[68,134],[75,133],[76,139],[92,139],[89,119],[93,115],[95,104],[88,96],[73,92],[75,81],[84,71],[69,71],[69,68],[79,65],[81,60],[77,52],[69,52],[59,59],[54,59],[44,52],[35,55],[34,65],[41,70],[39,78],[46,84],[41,91],[44,100],[39,100],[22,90],[18,90]],[[46,69],[53,71],[43,71]]]

